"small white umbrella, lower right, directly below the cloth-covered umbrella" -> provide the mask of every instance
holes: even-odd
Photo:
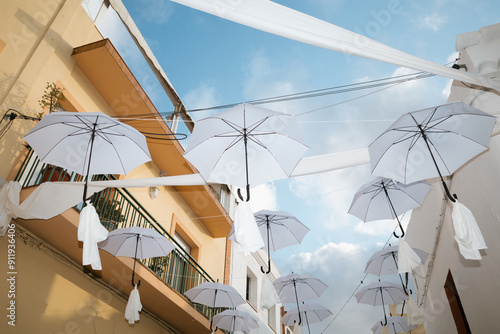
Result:
[[[368,305],[382,305],[384,318],[387,323],[384,305],[396,305],[406,300],[407,295],[402,287],[389,282],[374,282],[356,292],[354,295],[358,303]]]

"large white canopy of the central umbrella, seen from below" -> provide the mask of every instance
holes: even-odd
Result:
[[[250,184],[288,177],[307,150],[292,115],[244,103],[197,121],[184,156],[208,182],[246,186],[248,201]]]

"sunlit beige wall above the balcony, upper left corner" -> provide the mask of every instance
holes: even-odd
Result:
[[[34,116],[47,82],[60,81],[89,110],[99,110],[95,92],[75,70],[75,46],[101,39],[80,1],[2,1],[0,3],[0,106]],[[0,177],[7,178],[32,121],[16,119],[0,142]]]

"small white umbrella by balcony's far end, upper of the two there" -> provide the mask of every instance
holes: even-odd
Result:
[[[245,303],[245,300],[235,288],[219,282],[202,283],[184,292],[184,294],[193,303],[203,304],[211,308],[234,308]],[[210,330],[212,330],[212,322],[213,318],[210,320]]]

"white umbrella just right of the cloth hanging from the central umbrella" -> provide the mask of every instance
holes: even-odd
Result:
[[[268,254],[268,269],[266,271],[264,267],[261,267],[261,271],[264,274],[269,274],[271,271],[271,250],[276,251],[284,247],[300,244],[304,236],[309,232],[309,228],[296,217],[284,211],[261,210],[255,213],[254,216]],[[229,238],[232,238],[233,234],[234,226],[229,233]]]

